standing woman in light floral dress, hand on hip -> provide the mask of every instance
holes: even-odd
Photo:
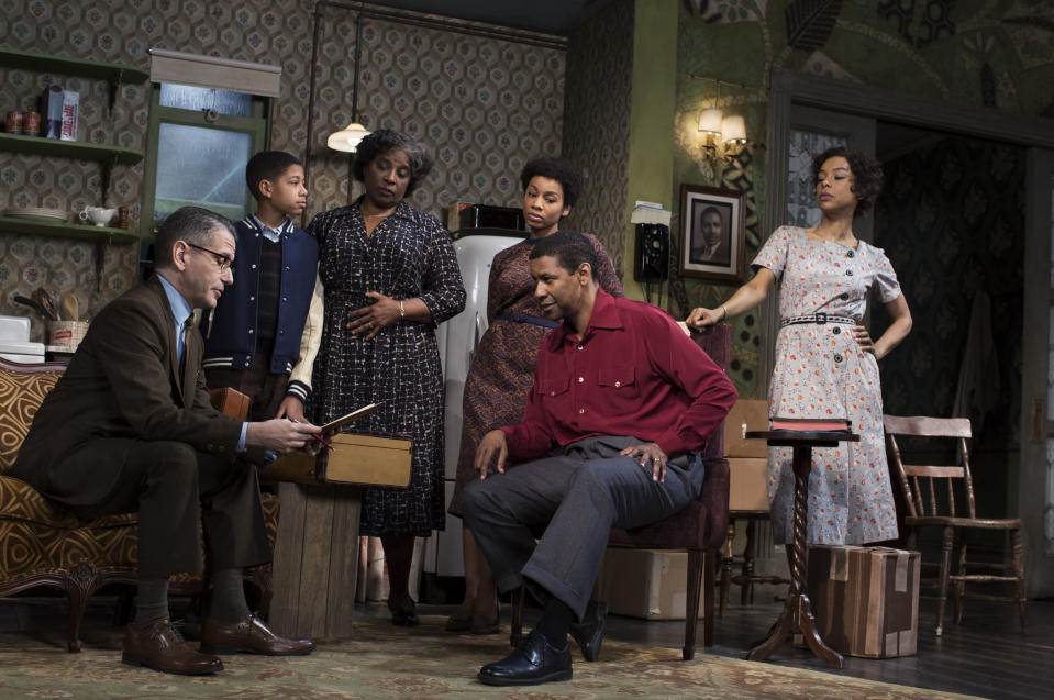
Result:
[[[840,418],[858,443],[814,448],[809,475],[808,542],[864,544],[897,537],[886,464],[878,360],[911,330],[897,275],[880,248],[853,235],[853,219],[881,189],[881,166],[831,148],[813,162],[823,219],[812,229],[781,226],[754,258],[754,278],[718,309],[695,309],[703,327],[761,303],[779,281],[779,336],[769,416]],[[877,341],[859,325],[876,289],[892,320]],[[794,468],[789,447],[768,451],[768,498],[777,543],[792,541]]]

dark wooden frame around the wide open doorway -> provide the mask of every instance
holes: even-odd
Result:
[[[786,170],[790,146],[791,108],[798,104],[1023,146],[1027,148],[1029,164],[1027,182],[1036,181],[1034,178],[1040,177],[1039,164],[1045,163],[1044,158],[1052,157],[1044,153],[1044,149],[1054,152],[1054,129],[1051,127],[1051,121],[1046,119],[1022,116],[964,102],[917,97],[859,82],[820,78],[783,68],[774,68],[769,79],[768,142],[765,163],[764,226],[769,230],[783,222],[787,207],[787,180],[784,171]],[[1049,185],[1047,181],[1044,186],[1047,190],[1047,200],[1050,199]],[[1049,266],[1051,260],[1049,249],[1051,234],[1049,230],[1040,231],[1040,229],[1042,229],[1043,221],[1050,220],[1050,201],[1047,201],[1045,213],[1039,211],[1039,209],[1038,205],[1032,203],[1025,212],[1027,243],[1031,242],[1034,247],[1040,245],[1039,241],[1045,240],[1046,254],[1041,257],[1040,251],[1027,248],[1025,260],[1033,260],[1036,264],[1042,262]],[[1028,315],[1030,313],[1029,308],[1025,308],[1024,312],[1025,318],[1032,318]],[[1045,326],[1049,311],[1044,308],[1041,313]],[[773,295],[762,304],[761,313],[759,330],[763,345],[758,357],[758,376],[764,378],[765,381],[768,381],[772,376],[777,321],[778,309]],[[1047,336],[1044,335],[1044,337]],[[1022,337],[1021,343],[1024,348],[1024,337]],[[1028,440],[1027,432],[1030,425],[1032,400],[1032,393],[1025,389],[1023,387],[1021,407],[1022,442]],[[1042,400],[1045,404],[1045,385]],[[1033,595],[1041,580],[1039,575],[1047,568],[1054,568],[1054,560],[1047,566],[1041,566],[1041,563],[1035,560],[1035,555],[1043,552],[1043,508],[1042,504],[1036,508],[1033,501],[1035,500],[1035,493],[1045,493],[1045,489],[1036,489],[1035,481],[1028,480],[1030,475],[1032,479],[1035,478],[1035,469],[1025,464],[1025,453],[1024,445],[1022,445],[1019,482],[1011,485],[1011,490],[1017,489],[1017,493],[1011,496],[1011,502],[1008,503],[1008,507],[1011,512],[1018,511],[1025,519],[1025,536],[1028,537],[1025,556],[1027,562],[1031,560],[1031,565],[1029,565],[1029,591],[1030,595]],[[1040,465],[1040,474],[1045,474],[1045,465]],[[1047,558],[1054,559],[1054,557]]]

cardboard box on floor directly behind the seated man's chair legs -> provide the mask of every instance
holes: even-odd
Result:
[[[609,612],[617,615],[684,620],[687,590],[687,552],[609,547],[597,574],[592,597],[607,601]],[[700,597],[700,618],[703,616],[702,603]]]

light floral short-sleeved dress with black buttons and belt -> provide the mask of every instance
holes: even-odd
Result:
[[[766,267],[779,285],[779,318],[826,313],[864,316],[867,295],[883,303],[900,285],[880,248],[861,241],[856,249],[810,240],[806,230],[781,226],[752,266]],[[878,363],[853,338],[851,325],[785,325],[776,340],[769,416],[847,418],[858,443],[812,451],[809,476],[810,544],[863,544],[897,536],[883,434]],[[768,451],[768,499],[777,543],[792,541],[794,468],[789,447]]]

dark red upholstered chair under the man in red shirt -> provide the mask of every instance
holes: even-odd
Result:
[[[691,334],[698,344],[728,371],[732,326],[719,323]],[[681,655],[696,655],[696,629],[699,622],[699,591],[703,586],[703,645],[713,646],[714,568],[719,549],[729,527],[729,460],[724,455],[724,426],[719,425],[703,453],[706,477],[699,498],[688,508],[651,525],[634,530],[612,530],[608,546],[635,549],[681,549],[688,552],[688,598],[685,603],[685,645]],[[512,595],[512,646],[520,643],[523,627],[523,591]]]

